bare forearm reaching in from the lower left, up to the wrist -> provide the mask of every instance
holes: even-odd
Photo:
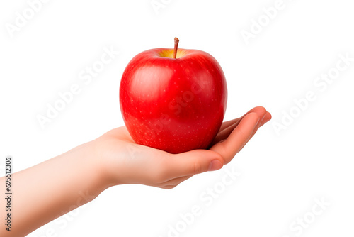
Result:
[[[101,165],[91,143],[12,175],[11,232],[0,236],[25,236],[36,228],[90,202],[103,189]],[[5,184],[1,177],[0,184]],[[1,208],[1,216],[4,210]],[[3,218],[1,218],[3,219]]]

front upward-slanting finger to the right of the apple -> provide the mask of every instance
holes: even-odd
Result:
[[[246,114],[227,139],[213,145],[210,150],[219,153],[224,159],[224,164],[227,164],[252,136],[258,121],[260,117],[256,112]]]

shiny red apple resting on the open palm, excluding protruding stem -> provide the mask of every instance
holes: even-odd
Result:
[[[120,109],[135,143],[183,153],[206,149],[227,106],[224,72],[200,50],[156,48],[136,55],[120,81]]]

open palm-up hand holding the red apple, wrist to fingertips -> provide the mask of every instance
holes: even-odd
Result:
[[[256,107],[241,118],[222,123],[209,150],[171,154],[137,145],[127,128],[115,128],[94,140],[107,186],[145,184],[171,189],[201,172],[219,170],[253,137],[271,115]]]

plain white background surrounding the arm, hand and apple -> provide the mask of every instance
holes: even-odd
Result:
[[[204,50],[222,65],[226,120],[264,106],[272,121],[222,170],[171,190],[112,187],[30,236],[353,236],[354,62],[325,89],[314,85],[335,72],[338,55],[354,57],[352,2],[284,0],[269,22],[262,9],[275,0],[163,2],[156,12],[151,0],[52,0],[11,37],[6,26],[30,6],[1,1],[2,167],[6,155],[16,172],[124,126],[118,89],[127,62],[149,48],[172,48],[175,36],[180,48]],[[260,33],[253,26],[259,18]],[[252,26],[247,44],[241,32]],[[120,53],[86,85],[79,73],[100,60],[103,48]],[[36,116],[72,84],[81,92],[41,128]],[[309,91],[316,99],[296,114],[294,100]],[[297,118],[277,133],[274,126],[290,111]],[[241,175],[225,187],[222,177],[232,170]],[[209,206],[201,198],[208,188],[219,192]],[[318,215],[316,199],[327,203]],[[193,206],[202,213],[182,223]],[[306,228],[299,227],[304,218]]]

